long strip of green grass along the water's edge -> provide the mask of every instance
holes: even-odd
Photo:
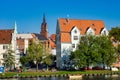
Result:
[[[55,75],[70,75],[70,74],[111,74],[119,73],[120,71],[110,70],[88,70],[88,71],[55,71],[55,72],[5,72],[4,75],[0,74],[0,77],[35,77],[35,76],[55,76]],[[18,76],[16,76],[18,75]]]

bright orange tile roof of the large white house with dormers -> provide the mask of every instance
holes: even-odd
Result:
[[[78,19],[65,19],[60,18],[59,26],[61,31],[61,42],[71,42],[70,32],[73,27],[77,27],[80,31],[80,34],[86,34],[86,31],[91,27],[96,35],[99,35],[101,30],[105,27],[102,20],[78,20]]]

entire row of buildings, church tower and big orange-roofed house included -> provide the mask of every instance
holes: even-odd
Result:
[[[41,24],[40,33],[19,34],[17,24],[14,29],[0,30],[0,65],[2,65],[3,55],[11,45],[15,51],[15,66],[20,66],[20,56],[27,53],[29,44],[34,41],[41,41],[50,53],[56,55],[57,68],[64,67],[64,61],[69,60],[71,51],[77,49],[81,36],[84,35],[108,35],[109,32],[102,20],[80,20],[59,18],[56,25],[56,34],[49,36],[45,15]]]

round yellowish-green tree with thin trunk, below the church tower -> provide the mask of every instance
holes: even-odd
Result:
[[[44,59],[47,58],[48,51],[41,42],[33,42],[28,48],[28,59],[36,64],[36,71],[38,71],[38,64],[43,63]]]

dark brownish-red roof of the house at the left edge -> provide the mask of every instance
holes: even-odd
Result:
[[[10,44],[12,40],[13,29],[0,30],[0,44]]]

